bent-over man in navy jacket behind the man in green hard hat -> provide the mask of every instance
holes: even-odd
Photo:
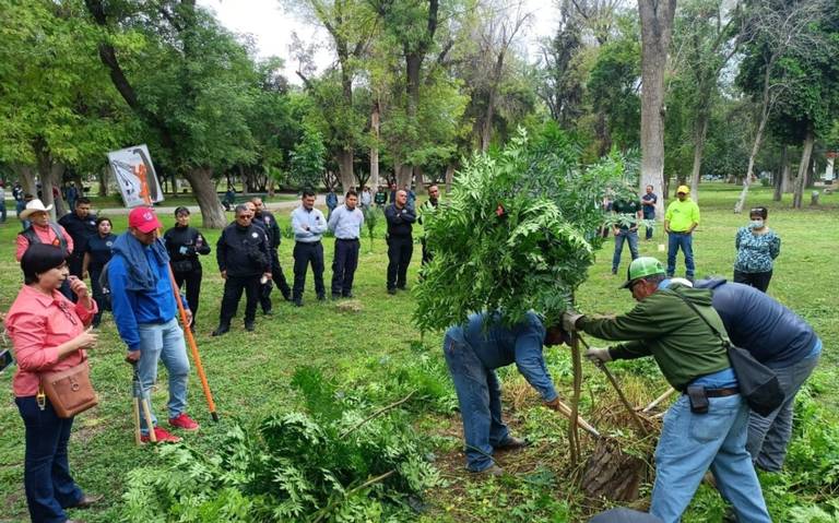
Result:
[[[818,364],[822,340],[795,312],[754,287],[723,278],[702,280],[696,287],[713,290],[712,305],[731,343],[778,375],[785,400],[767,417],[749,414],[746,443],[755,465],[778,472],[790,443],[795,394]]]

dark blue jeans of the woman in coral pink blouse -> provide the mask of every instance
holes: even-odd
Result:
[[[29,516],[33,523],[63,523],[67,521],[64,509],[84,496],[70,476],[67,460],[73,418],[56,416],[49,401],[42,411],[35,396],[15,397],[14,403],[26,427],[23,484]]]

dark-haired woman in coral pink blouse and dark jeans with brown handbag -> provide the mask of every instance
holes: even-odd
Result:
[[[36,394],[42,372],[79,365],[86,357],[84,349],[96,344],[96,334],[85,326],[97,308],[84,282],[69,276],[60,248],[29,246],[21,269],[25,285],[5,316],[5,329],[17,359],[14,402],[26,427],[26,503],[35,523],[64,522],[64,509],[86,508],[98,499],[85,496],[70,476],[67,442],[73,419],[59,418],[49,400],[39,402]],[[58,292],[68,278],[76,304]]]

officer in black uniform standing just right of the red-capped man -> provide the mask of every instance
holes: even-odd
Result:
[[[175,227],[163,235],[163,242],[169,253],[172,272],[175,283],[180,288],[187,286],[187,304],[192,311],[192,323],[189,328],[194,332],[198,317],[198,301],[201,296],[202,268],[199,254],[209,254],[210,245],[197,228],[189,226],[189,209],[180,206],[175,210]]]

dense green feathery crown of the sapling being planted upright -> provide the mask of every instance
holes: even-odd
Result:
[[[434,252],[416,287],[422,330],[501,309],[517,322],[533,309],[554,323],[587,277],[610,187],[628,178],[613,153],[583,167],[580,148],[556,127],[523,130],[500,151],[475,155],[424,227]]]

